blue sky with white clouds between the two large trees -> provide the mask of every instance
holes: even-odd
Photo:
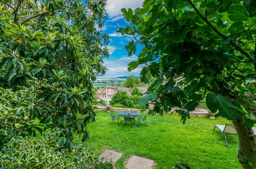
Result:
[[[110,38],[108,46],[110,56],[104,59],[104,66],[107,67],[107,72],[104,76],[99,78],[110,78],[119,76],[135,75],[140,76],[142,66],[128,72],[127,65],[129,62],[136,60],[137,55],[141,53],[142,46],[136,46],[136,53],[128,57],[128,52],[125,50],[125,46],[131,41],[132,36],[122,35],[117,33],[119,28],[125,28],[128,23],[125,21],[121,9],[131,8],[133,11],[136,8],[141,8],[144,0],[108,0],[106,6],[106,22],[103,33],[107,33]]]

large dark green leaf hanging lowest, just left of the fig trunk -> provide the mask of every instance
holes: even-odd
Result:
[[[234,105],[224,96],[218,94],[208,94],[206,96],[206,104],[208,109],[215,113],[219,110],[218,116],[227,118],[228,120],[235,120],[238,118],[238,113]]]

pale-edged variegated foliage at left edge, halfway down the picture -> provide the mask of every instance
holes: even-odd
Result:
[[[0,87],[0,142],[8,141],[16,135],[35,136],[36,131],[42,133],[40,126],[30,122],[29,111],[33,109],[33,102],[42,94],[46,80],[40,82],[29,81],[31,86],[19,87],[15,92]],[[15,124],[21,125],[16,126]]]

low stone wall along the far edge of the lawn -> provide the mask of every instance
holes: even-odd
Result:
[[[107,108],[105,106],[101,106],[101,105],[95,105],[97,107],[97,111],[107,111]],[[140,113],[140,109],[128,109],[128,108],[111,108],[111,111],[113,112],[128,112],[128,110],[130,110],[131,112],[135,112],[135,113]],[[144,113],[148,113],[148,110],[144,111]],[[178,113],[173,113],[173,114],[178,114]],[[208,113],[207,112],[198,112],[198,111],[193,111],[190,112],[190,116],[193,117],[208,117]]]

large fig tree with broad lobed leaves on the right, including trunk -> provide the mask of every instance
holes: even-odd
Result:
[[[185,123],[206,99],[216,117],[234,124],[244,168],[256,167],[256,91],[247,83],[255,79],[255,7],[256,1],[146,0],[134,13],[122,9],[130,26],[119,29],[134,37],[126,46],[129,55],[144,45],[128,70],[144,64],[141,81],[147,72],[154,78],[140,105],[154,102],[149,114],[179,107]]]

